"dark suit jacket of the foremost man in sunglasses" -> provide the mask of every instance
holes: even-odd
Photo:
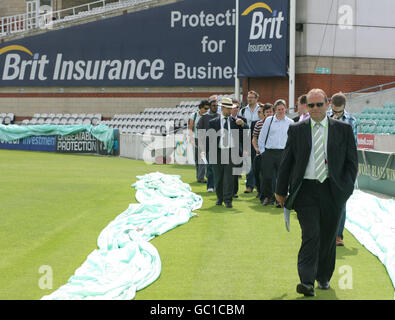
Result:
[[[286,196],[285,207],[293,202],[303,182],[311,153],[310,119],[290,125],[288,140],[280,163],[276,193]],[[351,126],[328,118],[328,178],[336,204],[344,205],[354,190],[358,173],[358,156]]]

